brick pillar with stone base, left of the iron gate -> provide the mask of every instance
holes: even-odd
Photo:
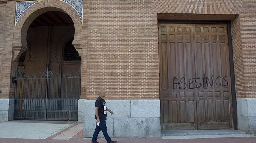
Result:
[[[12,83],[12,76],[15,75],[14,66],[17,62],[13,60],[12,42],[14,31],[14,17],[15,17],[15,1],[8,1],[1,6],[5,9],[5,15],[1,21],[4,21],[4,43],[2,50],[2,67],[1,68],[1,83],[0,83],[0,121],[13,120],[14,111],[14,83]],[[2,34],[2,33],[1,33]]]

